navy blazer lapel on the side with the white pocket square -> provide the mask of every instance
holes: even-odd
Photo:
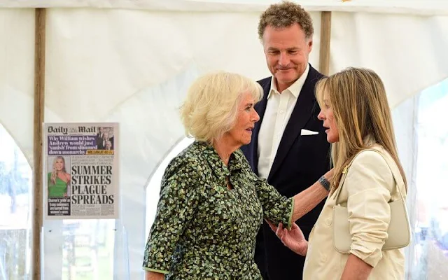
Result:
[[[295,139],[300,137],[300,131],[312,116],[314,106],[316,106],[316,97],[314,96],[314,87],[318,78],[316,74],[318,74],[318,72],[310,66],[307,80],[305,80],[293,109],[293,113],[291,113],[288,124],[283,132],[283,136],[281,137],[279,148],[277,149],[267,181],[269,181],[279,169],[281,162],[283,162],[283,159],[288,154],[291,146],[293,146]]]

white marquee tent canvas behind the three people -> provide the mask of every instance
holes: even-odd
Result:
[[[183,139],[176,110],[186,88],[207,71],[235,71],[254,79],[268,76],[257,25],[262,10],[274,2],[0,1],[0,123],[31,167],[36,149],[32,137],[36,129],[34,8],[46,8],[44,121],[120,123],[121,216],[116,223],[123,223],[127,233],[130,279],[143,275],[146,207],[154,207],[146,205],[146,192],[158,195],[158,190],[146,186],[160,162]],[[384,80],[394,109],[400,157],[412,188],[413,97],[448,78],[448,1],[297,2],[314,20],[311,64],[319,65],[321,12],[330,11],[329,73],[364,66]],[[411,189],[410,215],[412,197]],[[59,225],[43,222],[44,229]],[[42,240],[45,279],[58,279],[60,244]]]

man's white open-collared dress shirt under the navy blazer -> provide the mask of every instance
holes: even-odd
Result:
[[[265,116],[258,133],[258,175],[261,178],[267,179],[267,176],[269,176],[281,137],[291,113],[293,113],[308,72],[309,64],[302,76],[283,92],[276,89],[274,76],[272,76],[271,89],[267,95]]]

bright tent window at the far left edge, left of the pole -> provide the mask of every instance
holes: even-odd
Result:
[[[31,167],[0,125],[0,279],[29,278],[31,188]]]

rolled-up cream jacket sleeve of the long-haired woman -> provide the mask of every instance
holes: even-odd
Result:
[[[344,182],[348,192],[349,252],[372,267],[381,260],[381,248],[387,238],[393,182],[386,160],[373,151],[356,157]]]

